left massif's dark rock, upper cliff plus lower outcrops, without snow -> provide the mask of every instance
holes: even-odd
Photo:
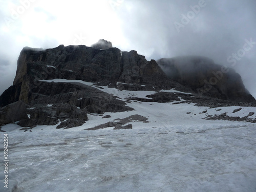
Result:
[[[41,50],[26,47],[19,55],[13,86],[0,96],[0,124],[19,120],[20,125],[31,127],[53,125],[60,120],[58,128],[67,128],[84,123],[86,113],[133,110],[125,106],[124,101],[96,88],[78,82],[47,81],[49,79],[95,82],[120,90],[160,90],[178,85],[165,76],[155,60],[147,61],[136,51],[121,54],[117,48],[99,50],[60,45]],[[15,102],[18,103],[12,104]],[[9,114],[16,108],[22,110],[12,118]]]

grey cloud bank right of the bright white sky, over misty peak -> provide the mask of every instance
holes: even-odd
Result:
[[[256,2],[205,0],[204,6],[191,14],[199,2],[129,1],[130,11],[120,14],[124,36],[148,59],[200,55],[233,67],[256,96],[256,45],[237,60],[236,66],[227,61],[243,49],[246,39],[256,41]],[[188,18],[187,24],[184,20],[182,23],[183,15]],[[177,30],[175,23],[183,27]]]

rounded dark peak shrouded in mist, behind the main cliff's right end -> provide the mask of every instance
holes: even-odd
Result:
[[[190,87],[200,95],[238,102],[255,102],[238,73],[216,65],[211,59],[185,56],[162,58],[157,62],[170,79]]]

